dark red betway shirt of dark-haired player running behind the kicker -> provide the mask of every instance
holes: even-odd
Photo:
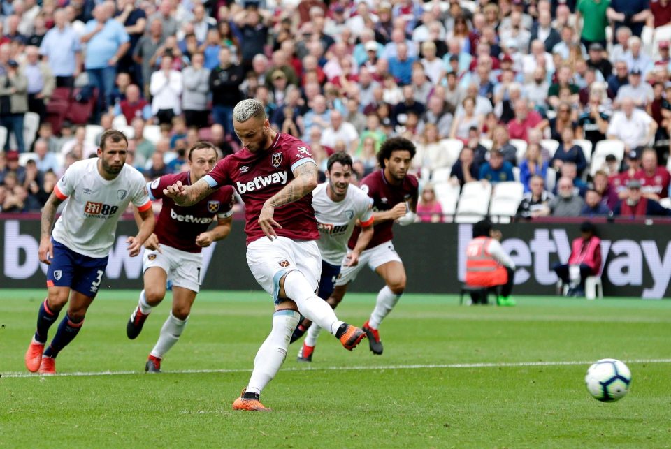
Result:
[[[163,189],[181,181],[185,186],[191,184],[190,172],[164,175],[147,185],[152,200],[163,200],[163,209],[154,228],[159,243],[189,253],[200,253],[202,248],[196,244],[196,237],[204,233],[217,218],[226,218],[233,214],[233,188],[222,187],[192,206],[176,205],[172,198],[164,196]]]

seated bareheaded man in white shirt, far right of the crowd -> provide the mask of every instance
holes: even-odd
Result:
[[[624,142],[627,151],[648,145],[655,136],[657,124],[644,110],[635,107],[633,98],[621,101],[621,110],[614,112],[607,130],[609,139]]]

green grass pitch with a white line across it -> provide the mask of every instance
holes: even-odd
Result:
[[[137,294],[102,292],[57,359],[62,375],[42,377],[27,376],[23,355],[45,292],[0,290],[0,446],[671,445],[668,301],[518,297],[504,309],[404,295],[380,330],[384,355],[322,334],[305,365],[294,344],[261,396],[275,412],[243,413],[231,404],[270,329],[267,295],[201,293],[166,374],[146,375],[169,297],[129,341]],[[338,314],[361,325],[374,302],[349,294]],[[589,364],[607,357],[633,374],[614,404],[584,387]]]

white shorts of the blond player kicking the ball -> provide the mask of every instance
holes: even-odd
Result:
[[[322,254],[314,240],[291,240],[261,237],[247,245],[247,264],[254,279],[278,303],[280,279],[292,270],[298,270],[308,279],[312,290],[317,291],[322,277]]]

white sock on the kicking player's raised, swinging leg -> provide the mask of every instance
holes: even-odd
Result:
[[[338,317],[335,316],[335,312],[331,309],[329,303],[315,295],[308,280],[298,270],[289,272],[284,277],[284,292],[287,293],[287,297],[296,302],[298,311],[305,318],[329,330],[331,334],[335,335],[335,332],[338,332],[338,327],[344,323],[338,321]]]

